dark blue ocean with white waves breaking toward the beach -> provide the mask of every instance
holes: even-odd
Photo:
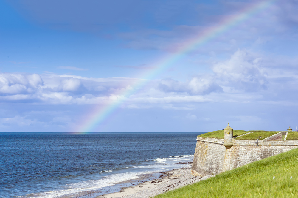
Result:
[[[0,197],[68,196],[182,168],[199,134],[0,133]]]

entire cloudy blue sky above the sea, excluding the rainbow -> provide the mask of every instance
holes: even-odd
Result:
[[[177,46],[259,2],[0,1],[0,131],[79,131],[121,97],[92,131],[296,129],[297,0],[272,1],[146,78]]]

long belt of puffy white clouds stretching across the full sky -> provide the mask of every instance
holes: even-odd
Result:
[[[190,110],[193,107],[187,105],[203,102],[252,103],[269,97],[272,101],[284,101],[288,89],[298,91],[298,70],[295,58],[288,58],[287,62],[277,59],[237,50],[227,60],[214,63],[213,73],[185,81],[0,73],[0,101],[56,105],[123,103],[122,108],[153,108],[162,104],[159,108],[173,110]],[[146,86],[137,89],[135,85],[144,81]]]

